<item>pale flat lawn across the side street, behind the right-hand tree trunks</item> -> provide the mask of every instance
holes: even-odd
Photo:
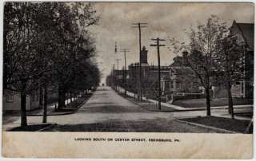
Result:
[[[245,98],[233,98],[234,105],[242,105],[242,104],[253,104],[253,99],[245,99]],[[174,105],[181,106],[183,108],[206,108],[206,99],[190,99],[190,100],[175,100]],[[214,106],[226,106],[228,105],[228,99],[212,99],[210,101],[210,105]]]

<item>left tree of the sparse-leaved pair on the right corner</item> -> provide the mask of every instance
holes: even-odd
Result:
[[[207,19],[206,24],[199,24],[196,29],[190,28],[188,32],[190,43],[170,40],[174,46],[174,53],[181,53],[186,50],[186,61],[190,69],[194,71],[206,93],[207,116],[210,116],[210,89],[214,83],[214,77],[217,76],[219,65],[215,59],[218,56],[219,40],[226,37],[228,29],[226,24],[212,15]]]

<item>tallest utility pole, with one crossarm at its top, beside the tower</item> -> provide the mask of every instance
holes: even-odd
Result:
[[[138,99],[142,100],[142,35],[141,29],[146,28],[147,23],[133,23],[132,28],[138,28],[138,45],[139,45],[139,87],[138,87]]]

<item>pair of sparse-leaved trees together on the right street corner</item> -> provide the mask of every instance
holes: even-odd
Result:
[[[170,39],[174,53],[186,51],[186,61],[206,92],[207,116],[210,116],[210,89],[218,81],[228,93],[229,112],[234,118],[231,87],[241,81],[244,71],[244,44],[239,44],[225,22],[212,15],[206,24],[187,32],[190,42]]]

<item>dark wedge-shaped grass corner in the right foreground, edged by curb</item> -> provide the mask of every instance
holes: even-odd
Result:
[[[214,128],[222,128],[233,132],[242,132],[246,131],[246,128],[250,124],[250,120],[232,120],[228,118],[215,117],[215,116],[198,116],[189,119],[182,119],[188,122],[196,123],[196,124],[204,124]],[[250,126],[249,132],[253,133],[253,124]]]

